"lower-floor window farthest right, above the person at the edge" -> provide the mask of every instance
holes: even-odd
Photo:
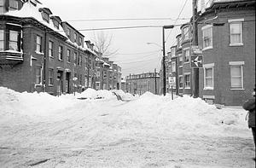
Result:
[[[243,64],[244,62],[230,62],[231,89],[243,89]]]

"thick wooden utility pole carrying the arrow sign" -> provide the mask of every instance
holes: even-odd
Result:
[[[192,3],[192,10],[193,10],[193,38],[192,38],[192,45],[197,46],[198,45],[198,31],[197,31],[197,0],[193,0]],[[195,67],[192,68],[192,76],[193,78],[193,96],[196,98],[199,96],[199,68]]]

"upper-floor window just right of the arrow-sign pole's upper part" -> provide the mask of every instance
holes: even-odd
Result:
[[[212,26],[202,27],[203,49],[212,49]]]

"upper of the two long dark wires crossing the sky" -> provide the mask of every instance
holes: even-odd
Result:
[[[189,18],[119,18],[119,19],[88,19],[88,20],[66,20],[70,22],[75,21],[123,21],[123,20],[189,20]]]

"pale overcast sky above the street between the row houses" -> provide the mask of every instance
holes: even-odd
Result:
[[[117,26],[165,26],[183,24],[189,20],[177,20],[192,16],[192,0],[41,0],[53,14],[67,20],[78,30]],[[186,3],[186,4],[185,4]],[[184,8],[183,5],[185,4]],[[72,21],[102,19],[149,19],[170,18],[172,20],[119,20],[119,21]],[[175,37],[180,26],[166,30],[166,51],[176,44]],[[100,31],[81,31],[85,39],[92,41]],[[162,29],[136,28],[104,31],[113,36],[112,49],[118,49],[118,55],[110,60],[122,67],[122,76],[130,73],[157,72],[160,70]],[[156,43],[156,44],[147,44]]]

